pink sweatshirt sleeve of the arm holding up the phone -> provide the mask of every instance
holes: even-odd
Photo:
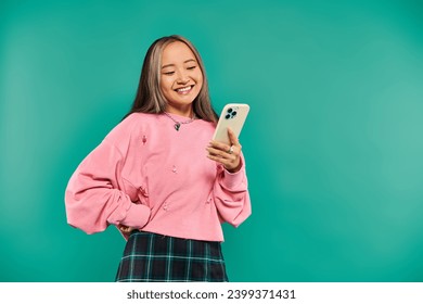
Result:
[[[218,166],[213,191],[221,221],[227,221],[234,227],[240,226],[252,214],[243,156],[241,161],[242,167],[236,173],[229,173],[223,166]]]

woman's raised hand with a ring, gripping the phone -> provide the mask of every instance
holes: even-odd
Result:
[[[218,141],[210,141],[206,148],[207,157],[223,165],[230,173],[235,173],[241,168],[241,149],[242,145],[234,132],[228,128],[228,136],[231,145]]]

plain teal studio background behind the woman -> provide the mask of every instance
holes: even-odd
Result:
[[[423,281],[418,0],[1,1],[0,281],[113,281],[124,239],[67,226],[64,190],[170,34],[218,112],[252,107],[232,281]]]

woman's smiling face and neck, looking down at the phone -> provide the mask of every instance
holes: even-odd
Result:
[[[203,86],[203,73],[194,53],[183,42],[175,41],[162,54],[161,89],[168,112],[192,114],[192,102]]]

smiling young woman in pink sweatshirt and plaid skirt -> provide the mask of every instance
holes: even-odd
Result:
[[[241,144],[217,122],[201,56],[183,37],[154,41],[129,113],[79,164],[67,221],[127,240],[116,281],[227,281],[221,223],[251,214]]]

